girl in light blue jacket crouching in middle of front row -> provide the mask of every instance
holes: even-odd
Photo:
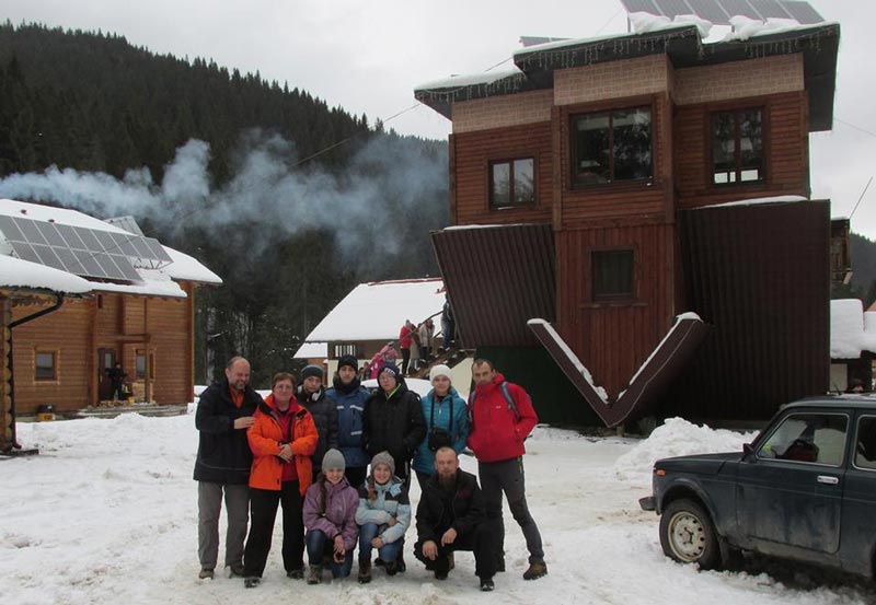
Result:
[[[376,548],[388,575],[395,575],[404,534],[411,525],[411,501],[402,480],[395,476],[395,461],[389,452],[371,458],[371,474],[359,489],[359,583],[371,581],[371,549]]]

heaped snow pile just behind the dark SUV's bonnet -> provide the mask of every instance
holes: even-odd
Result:
[[[650,437],[614,463],[614,475],[635,485],[650,486],[654,463],[660,458],[690,454],[741,452],[758,433],[738,433],[725,429],[699,427],[682,418],[669,418]]]

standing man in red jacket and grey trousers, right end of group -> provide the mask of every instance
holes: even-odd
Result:
[[[472,430],[469,447],[477,458],[477,475],[484,492],[486,516],[497,522],[499,533],[498,570],[505,571],[505,525],[502,522],[502,493],[508,498],[517,524],[523,531],[529,550],[525,580],[548,573],[541,534],[527,507],[523,485],[523,440],[539,421],[532,400],[522,387],[505,382],[493,362],[475,359],[472,363],[474,392],[469,397]]]

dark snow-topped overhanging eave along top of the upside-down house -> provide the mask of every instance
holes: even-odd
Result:
[[[634,20],[636,14],[641,15],[638,20]],[[809,130],[831,129],[840,42],[838,23],[800,25],[793,20],[763,23],[740,16],[741,25],[728,36],[704,42],[708,32],[705,25],[711,24],[702,19],[677,18],[669,22],[647,13],[630,16],[638,25],[636,33],[527,46],[514,53],[514,66],[509,68],[426,82],[416,86],[414,96],[452,119],[453,103],[552,89],[553,74],[558,69],[662,54],[676,68],[689,68],[803,53]]]

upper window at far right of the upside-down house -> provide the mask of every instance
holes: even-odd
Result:
[[[712,183],[735,185],[764,181],[763,110],[712,114]]]

